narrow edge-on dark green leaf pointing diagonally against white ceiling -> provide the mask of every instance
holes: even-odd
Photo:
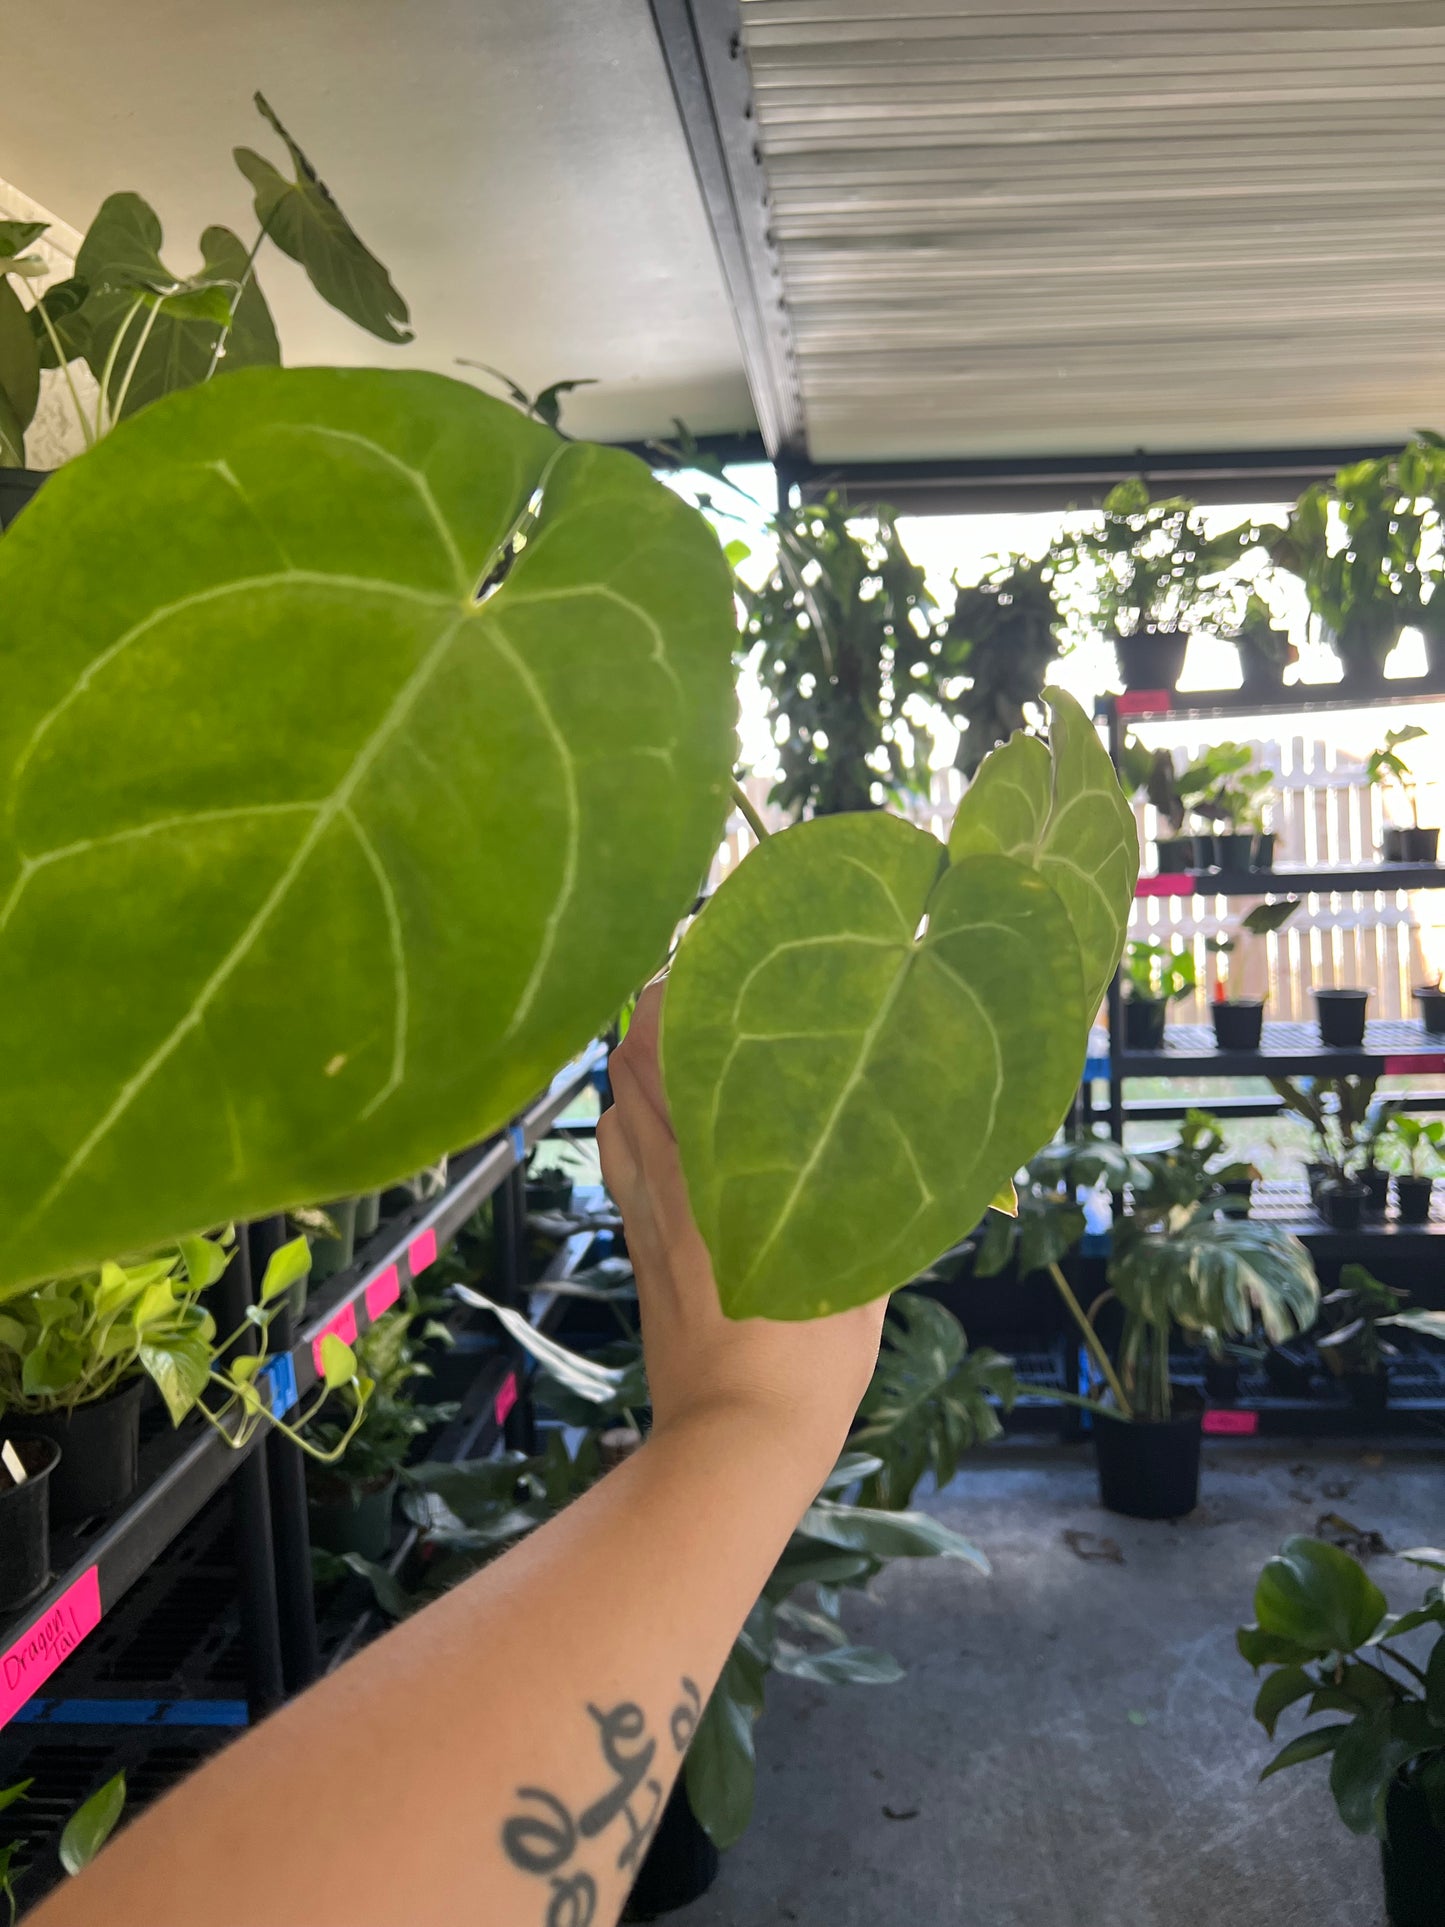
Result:
[[[256,220],[283,254],[299,260],[312,287],[333,308],[381,341],[410,341],[407,303],[391,285],[391,276],[372,254],[347,216],[331,198],[326,181],[285,131],[264,94],[256,112],[285,141],[295,181],[287,181],[270,160],[249,146],[235,148],[235,164],[256,191]]]

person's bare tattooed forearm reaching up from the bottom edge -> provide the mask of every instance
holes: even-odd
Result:
[[[250,1921],[225,1865],[264,1867],[276,1927],[607,1927],[832,1443],[680,1420],[187,1781],[37,1927],[191,1927],[198,1894]]]

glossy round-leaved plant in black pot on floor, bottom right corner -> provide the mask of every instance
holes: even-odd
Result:
[[[1254,1717],[1275,1736],[1279,1717],[1304,1702],[1306,1727],[1260,1779],[1329,1755],[1329,1792],[1351,1833],[1376,1835],[1393,1927],[1445,1927],[1445,1553],[1399,1555],[1430,1578],[1424,1603],[1391,1619],[1385,1596],[1337,1545],[1291,1538],[1254,1588],[1254,1621],[1235,1634],[1254,1671],[1266,1669]],[[1430,1632],[1424,1665],[1401,1651],[1408,1632]]]

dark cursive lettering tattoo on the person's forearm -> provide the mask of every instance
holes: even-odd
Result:
[[[597,1914],[597,1883],[574,1856],[586,1840],[595,1840],[615,1821],[626,1823],[626,1840],[617,1856],[618,1871],[636,1869],[651,1840],[663,1808],[663,1782],[649,1775],[657,1740],[647,1734],[640,1705],[624,1700],[603,1713],[588,1705],[597,1727],[603,1761],[613,1784],[576,1817],[543,1786],[518,1786],[524,1804],[501,1829],[501,1846],[514,1867],[549,1883],[543,1927],[591,1927]],[[694,1680],[682,1680],[682,1700],[670,1713],[672,1746],[686,1754],[701,1717],[701,1694]],[[530,1809],[530,1811],[528,1811]]]

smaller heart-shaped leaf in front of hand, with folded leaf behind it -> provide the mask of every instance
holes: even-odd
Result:
[[[975,809],[975,848],[819,817],[761,844],[688,933],[663,1060],[730,1316],[815,1318],[902,1285],[1064,1118],[1139,850],[1094,730],[1052,703],[1052,761],[1031,738],[985,761],[998,813]]]

